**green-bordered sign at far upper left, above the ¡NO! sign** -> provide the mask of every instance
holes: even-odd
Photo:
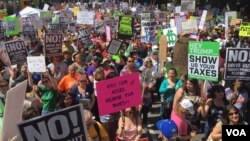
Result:
[[[3,21],[6,22],[6,35],[19,34],[19,24],[17,17],[4,17]]]

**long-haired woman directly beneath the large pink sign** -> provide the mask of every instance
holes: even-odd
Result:
[[[118,139],[123,141],[137,141],[141,138],[142,122],[136,107],[122,111],[118,122]]]

